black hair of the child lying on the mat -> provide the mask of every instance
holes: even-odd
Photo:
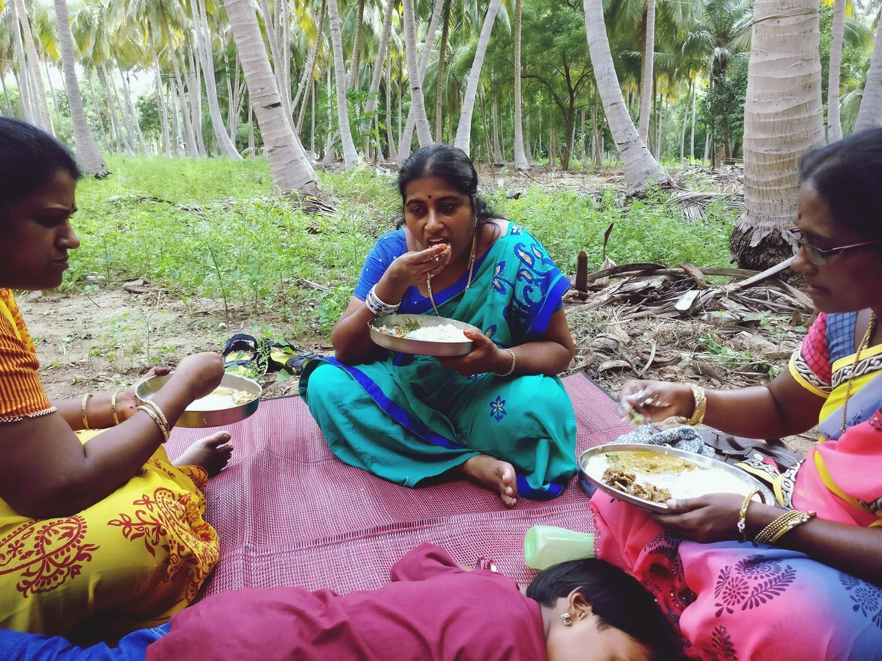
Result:
[[[653,595],[607,561],[591,558],[553,565],[527,586],[527,597],[550,607],[572,590],[579,590],[591,605],[599,628],[613,627],[630,635],[654,661],[684,658],[682,640]]]

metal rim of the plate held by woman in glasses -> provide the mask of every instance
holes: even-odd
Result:
[[[667,512],[667,505],[662,505],[662,503],[659,502],[646,501],[632,494],[626,494],[624,491],[619,491],[614,486],[609,486],[601,479],[602,475],[593,475],[588,472],[588,460],[592,457],[597,457],[608,452],[629,451],[658,452],[659,454],[682,457],[690,461],[692,464],[698,464],[699,466],[703,466],[708,470],[727,473],[730,476],[738,479],[744,485],[744,489],[742,490],[741,495],[747,495],[750,494],[751,491],[759,489],[759,491],[761,491],[763,495],[766,496],[766,502],[774,503],[774,494],[772,494],[771,490],[769,490],[766,485],[760,482],[759,479],[753,477],[749,472],[742,471],[737,466],[726,464],[725,462],[722,462],[719,459],[714,459],[713,457],[705,457],[703,455],[696,454],[695,452],[688,452],[684,449],[670,448],[667,445],[650,445],[647,443],[606,443],[605,445],[600,445],[596,448],[585,450],[582,454],[579,455],[579,485],[582,486],[582,490],[585,491],[586,494],[591,496],[594,495],[594,492],[597,489],[600,489],[604,494],[609,494],[613,498],[617,498],[619,501],[630,502],[632,505],[636,505],[639,508],[648,509],[650,512]]]

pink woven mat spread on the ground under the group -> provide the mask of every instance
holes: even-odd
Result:
[[[624,426],[616,405],[585,375],[564,379],[578,425],[578,451],[614,440]],[[593,531],[587,496],[572,479],[552,501],[498,497],[466,481],[407,488],[343,464],[328,449],[300,397],[261,402],[228,427],[235,452],[206,489],[207,520],[221,537],[221,561],[205,594],[241,587],[300,585],[309,590],[369,590],[422,541],[462,563],[480,555],[527,582],[524,533],[533,525]],[[213,430],[207,430],[213,431]],[[204,429],[176,429],[176,457]]]

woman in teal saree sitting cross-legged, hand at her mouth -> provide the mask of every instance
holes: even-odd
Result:
[[[497,491],[553,498],[576,470],[576,422],[557,374],[574,347],[561,298],[569,280],[525,229],[477,195],[465,152],[431,145],[401,168],[405,227],[371,250],[300,393],[334,454],[416,486],[460,474]],[[386,302],[390,301],[390,302]],[[461,358],[381,349],[368,322],[393,311],[471,323]]]

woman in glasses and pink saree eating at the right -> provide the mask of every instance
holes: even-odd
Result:
[[[619,398],[647,420],[753,437],[819,420],[822,442],[788,472],[751,466],[777,506],[709,494],[650,516],[601,492],[591,501],[597,557],[653,590],[694,658],[882,653],[882,129],[811,152],[800,174],[792,268],[821,314],[789,371],[740,390],[629,382]],[[792,525],[760,534],[782,515]]]

